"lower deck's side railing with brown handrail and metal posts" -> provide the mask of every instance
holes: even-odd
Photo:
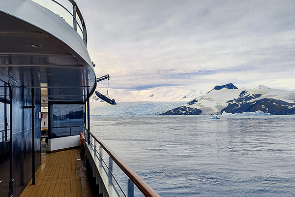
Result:
[[[137,173],[135,173],[130,167],[128,167],[128,165],[125,164],[104,142],[98,139],[88,129],[84,129],[84,139],[87,146],[89,147],[90,151],[93,152],[95,160],[99,163],[98,165],[102,167],[105,173],[107,174],[108,185],[114,186],[115,181],[116,185],[118,186],[118,189],[115,190],[119,197],[121,195],[123,195],[124,197],[133,197],[134,184],[145,197],[160,197]],[[103,153],[106,153],[108,156],[108,164],[103,159]],[[113,173],[113,162],[115,162],[115,164],[117,164],[120,170],[124,172],[124,174],[129,178],[127,180],[127,194],[124,192]],[[121,195],[118,193],[118,190],[120,190]]]

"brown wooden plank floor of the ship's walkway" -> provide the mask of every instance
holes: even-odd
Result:
[[[30,181],[20,197],[92,197],[80,158],[80,149],[42,153],[36,184]]]

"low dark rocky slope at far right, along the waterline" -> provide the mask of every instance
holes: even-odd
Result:
[[[221,113],[223,111],[227,113],[242,113],[245,111],[254,112],[258,110],[273,115],[295,114],[294,104],[285,102],[283,100],[269,98],[242,103],[232,102],[229,103],[229,105],[224,108]]]

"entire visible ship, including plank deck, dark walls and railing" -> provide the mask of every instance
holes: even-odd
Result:
[[[89,100],[102,78],[87,50],[85,21],[74,0],[68,8],[48,1],[58,7],[1,0],[0,197],[133,197],[134,186],[159,197],[90,131]],[[85,160],[72,149],[79,146]],[[126,175],[123,187],[113,163]]]

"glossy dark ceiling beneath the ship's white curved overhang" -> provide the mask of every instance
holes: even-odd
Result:
[[[86,68],[89,65],[78,54],[56,37],[27,22],[1,11],[0,19],[3,74],[27,88],[41,88],[43,106],[48,100],[86,101],[90,87],[95,86],[90,84],[90,76],[94,73],[89,73]],[[37,83],[23,80],[24,74],[36,76],[32,73],[38,73]]]

